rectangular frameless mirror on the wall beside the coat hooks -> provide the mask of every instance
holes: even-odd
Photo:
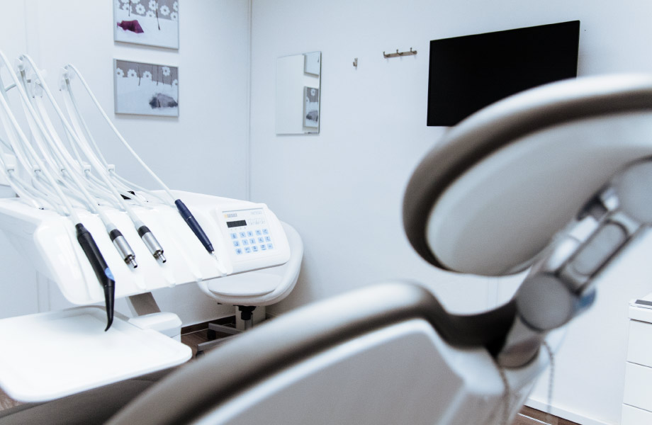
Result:
[[[322,52],[276,60],[276,134],[319,132]]]

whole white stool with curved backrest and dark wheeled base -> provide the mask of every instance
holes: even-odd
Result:
[[[237,306],[245,330],[253,327],[253,312],[256,307],[276,304],[283,300],[290,295],[299,277],[303,259],[303,241],[294,227],[286,222],[281,222],[281,225],[290,245],[290,259],[286,263],[198,283],[202,292],[218,303]],[[252,237],[257,238],[255,234],[252,234]],[[208,332],[214,339],[215,332],[235,336],[240,334],[241,330],[209,323]],[[198,344],[198,354],[201,355],[204,351],[223,344],[227,339],[229,337]]]

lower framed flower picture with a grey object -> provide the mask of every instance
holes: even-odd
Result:
[[[179,68],[113,60],[116,113],[179,116]]]

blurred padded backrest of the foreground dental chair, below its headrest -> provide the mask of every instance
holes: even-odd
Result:
[[[505,310],[448,314],[418,285],[363,288],[247,331],[108,423],[498,424],[504,385],[483,344],[510,322]],[[534,376],[510,378],[512,394]]]

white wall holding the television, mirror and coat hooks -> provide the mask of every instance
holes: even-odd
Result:
[[[651,12],[643,0],[253,0],[252,200],[268,203],[305,242],[296,290],[272,311],[395,277],[425,283],[456,311],[510,296],[515,279],[435,271],[403,235],[405,184],[444,133],[426,126],[429,40],[580,19],[580,75],[649,72]],[[416,56],[382,56],[410,47]],[[276,58],[314,50],[322,51],[320,135],[276,136]],[[556,412],[585,424],[619,422],[626,301],[652,289],[619,271],[571,325],[556,359]],[[538,387],[532,403],[545,402],[546,390]]]

